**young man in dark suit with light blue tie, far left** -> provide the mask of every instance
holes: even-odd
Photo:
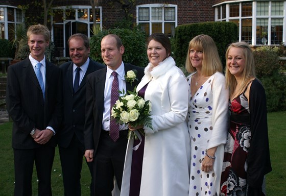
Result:
[[[50,31],[37,24],[27,32],[30,55],[8,67],[6,103],[13,120],[14,195],[32,195],[34,162],[38,195],[52,195],[51,171],[62,119],[61,70],[45,56]]]

